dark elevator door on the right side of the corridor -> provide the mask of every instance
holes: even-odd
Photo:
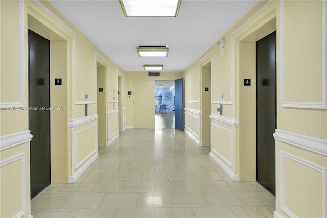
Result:
[[[256,180],[275,195],[276,32],[256,42]]]

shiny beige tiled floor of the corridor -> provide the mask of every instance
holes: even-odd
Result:
[[[50,185],[31,201],[34,217],[273,217],[275,197],[233,182],[184,132],[128,129],[99,148],[74,184]]]

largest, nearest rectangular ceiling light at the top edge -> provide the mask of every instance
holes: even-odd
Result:
[[[181,0],[119,0],[125,17],[177,17]]]

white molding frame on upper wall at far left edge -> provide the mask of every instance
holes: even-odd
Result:
[[[0,107],[25,107],[25,13],[24,1],[19,1],[19,102],[0,102]],[[8,72],[9,73],[9,72]]]

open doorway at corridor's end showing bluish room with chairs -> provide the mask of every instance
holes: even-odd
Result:
[[[175,81],[155,81],[155,128],[175,128]]]

